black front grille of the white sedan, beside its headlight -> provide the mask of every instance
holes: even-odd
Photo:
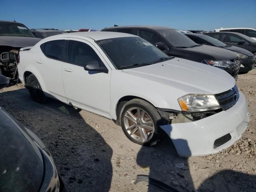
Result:
[[[216,94],[216,97],[218,99],[218,102],[220,103],[220,106],[223,110],[228,110],[229,108],[231,108],[232,106],[234,106],[234,104],[236,104],[236,102],[239,99],[239,92],[238,92],[238,88],[235,85],[232,89],[227,90],[225,92]]]

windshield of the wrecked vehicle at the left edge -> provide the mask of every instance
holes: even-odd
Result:
[[[15,22],[0,22],[0,36],[35,37],[26,26]]]

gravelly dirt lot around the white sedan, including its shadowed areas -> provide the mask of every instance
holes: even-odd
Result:
[[[139,146],[111,120],[56,100],[32,101],[22,84],[0,90],[0,106],[48,146],[68,191],[165,191],[147,182],[134,184],[138,174],[145,174],[180,192],[253,192],[256,69],[239,75],[237,84],[248,100],[248,129],[232,147],[206,157],[180,158],[168,138],[152,148]],[[184,166],[177,168],[178,163]]]

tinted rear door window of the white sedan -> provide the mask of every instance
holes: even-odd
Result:
[[[64,60],[65,40],[53,40],[44,43],[44,54],[52,59]],[[42,46],[42,45],[41,45]],[[40,47],[41,47],[40,46]],[[42,47],[41,47],[42,49]]]

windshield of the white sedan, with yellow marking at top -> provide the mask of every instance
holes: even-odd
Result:
[[[140,37],[97,41],[118,69],[133,68],[169,60],[170,57]]]

